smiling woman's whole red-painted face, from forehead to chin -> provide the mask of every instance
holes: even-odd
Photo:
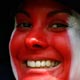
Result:
[[[25,1],[9,50],[16,80],[69,80],[70,10],[52,0]]]

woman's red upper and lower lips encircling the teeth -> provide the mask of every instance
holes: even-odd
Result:
[[[36,58],[36,59],[34,59],[34,58],[30,58],[30,59],[26,59],[26,60],[23,60],[23,61],[21,61],[21,64],[23,64],[24,63],[24,61],[27,61],[27,60],[33,60],[33,61],[37,61],[37,60],[52,60],[52,61],[58,61],[58,62],[60,62],[57,66],[55,66],[55,67],[50,67],[50,68],[29,68],[29,67],[27,67],[27,66],[23,66],[23,69],[24,69],[24,71],[26,71],[26,73],[27,74],[45,74],[46,72],[49,72],[49,73],[53,73],[53,72],[55,72],[55,71],[58,71],[60,68],[62,68],[62,64],[63,64],[63,61],[61,60],[61,59],[55,59],[55,58]],[[20,62],[19,62],[20,63]]]

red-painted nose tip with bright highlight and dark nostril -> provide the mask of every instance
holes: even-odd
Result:
[[[30,49],[43,49],[48,46],[46,41],[40,40],[36,37],[26,37],[25,44]]]

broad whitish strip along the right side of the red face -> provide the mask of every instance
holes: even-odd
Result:
[[[76,17],[76,18],[75,18]],[[69,80],[80,80],[80,19],[79,15],[70,17],[68,29],[70,42],[72,45],[72,60]]]

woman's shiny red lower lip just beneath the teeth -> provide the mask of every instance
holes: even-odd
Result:
[[[45,73],[53,73],[56,70],[62,69],[61,64],[59,64],[57,67],[51,67],[51,68],[25,68],[26,74],[41,74],[44,75]]]

